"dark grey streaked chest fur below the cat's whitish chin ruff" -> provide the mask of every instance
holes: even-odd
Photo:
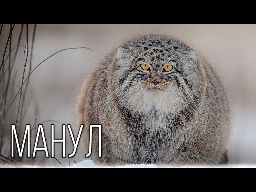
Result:
[[[126,129],[124,137],[128,142],[127,145],[120,143],[123,153],[119,155],[124,159],[126,157],[128,162],[165,161],[167,154],[173,149],[176,137],[172,118],[155,110],[145,114],[126,111],[122,115],[122,124]]]

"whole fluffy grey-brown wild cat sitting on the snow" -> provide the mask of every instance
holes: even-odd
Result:
[[[113,50],[86,80],[77,104],[87,151],[89,125],[102,124],[101,158],[98,132],[93,133],[90,158],[96,162],[228,161],[224,86],[209,64],[175,38],[140,36]]]

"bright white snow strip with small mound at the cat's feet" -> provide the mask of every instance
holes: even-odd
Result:
[[[130,164],[121,166],[101,166],[96,165],[92,160],[84,160],[78,164],[70,166],[71,168],[156,168],[154,164]]]

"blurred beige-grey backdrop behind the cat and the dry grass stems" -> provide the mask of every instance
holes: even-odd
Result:
[[[28,25],[29,46],[32,46],[33,28],[34,24]],[[16,24],[12,31],[13,47],[17,45],[20,29],[21,25]],[[0,35],[1,54],[4,54],[9,32],[10,24],[4,24]],[[256,25],[38,24],[34,36],[32,68],[48,56],[65,48],[88,47],[93,52],[87,49],[66,50],[46,60],[33,72],[26,93],[27,104],[30,100],[33,102],[27,109],[24,124],[34,124],[37,116],[37,123],[48,120],[60,122],[59,124],[54,123],[60,132],[61,124],[74,126],[73,104],[76,91],[83,79],[94,70],[100,59],[120,44],[120,41],[136,34],[145,33],[176,36],[195,47],[214,66],[222,76],[232,102],[232,135],[228,152],[230,163],[256,164],[256,75],[254,72],[256,70]],[[20,44],[26,45],[26,25],[23,28]],[[11,96],[14,98],[21,86],[24,48],[21,46],[17,52],[16,83],[14,94],[9,95],[10,99]],[[31,48],[29,49],[31,51]],[[6,56],[8,50],[9,47]],[[28,67],[25,77],[27,74]],[[4,128],[9,133],[10,124],[16,121],[17,107],[18,98],[6,117]],[[44,129],[48,130],[45,133],[48,138],[50,138],[50,124],[52,122],[44,123]],[[75,128],[74,130],[74,134],[77,136],[78,130]],[[67,136],[68,138],[69,136]],[[6,139],[8,140],[8,138]],[[10,144],[10,142],[7,143]],[[50,144],[50,142],[48,143]],[[56,144],[57,146],[61,147],[61,144]],[[8,153],[8,149],[5,150]],[[50,145],[48,150],[50,151]],[[72,151],[72,147],[70,150]],[[62,150],[59,151],[58,155],[61,156]],[[42,155],[44,154],[42,153]],[[62,164],[68,163],[61,157],[59,160],[62,161]],[[41,161],[39,160],[39,162]],[[44,163],[58,164],[51,158],[44,160]]]

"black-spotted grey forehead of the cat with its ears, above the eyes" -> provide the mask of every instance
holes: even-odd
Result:
[[[179,65],[194,65],[197,61],[194,50],[184,42],[173,37],[156,35],[141,36],[124,43],[118,48],[117,59],[119,65],[146,62],[155,68],[162,68],[172,60]]]

